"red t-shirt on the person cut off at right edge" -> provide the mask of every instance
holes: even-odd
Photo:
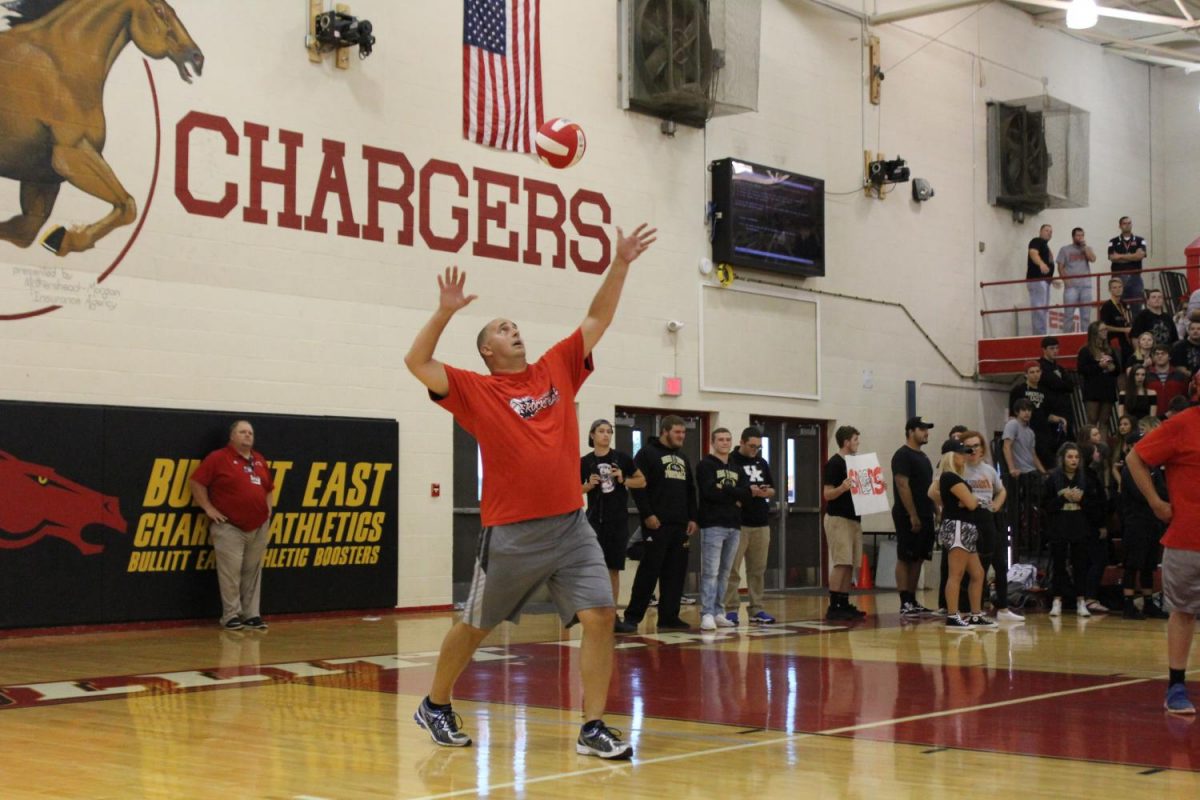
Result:
[[[1163,467],[1171,501],[1165,547],[1200,551],[1200,408],[1180,411],[1146,434],[1134,452],[1151,467]]]

